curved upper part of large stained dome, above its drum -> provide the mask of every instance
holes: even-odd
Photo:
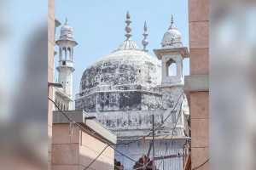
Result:
[[[131,40],[125,41],[84,71],[80,91],[96,86],[143,85],[152,87],[160,84],[160,62],[141,49]]]

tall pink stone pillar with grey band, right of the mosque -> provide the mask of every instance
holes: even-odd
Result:
[[[209,2],[189,0],[190,76],[185,77],[191,116],[192,169],[209,158]],[[209,161],[199,170],[209,169]]]

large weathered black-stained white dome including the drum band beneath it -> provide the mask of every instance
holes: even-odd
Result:
[[[160,71],[158,59],[137,49],[136,42],[125,40],[117,50],[84,71],[76,106],[85,111],[157,108],[160,104],[146,106],[150,101],[143,99],[146,100],[146,95],[160,97]]]

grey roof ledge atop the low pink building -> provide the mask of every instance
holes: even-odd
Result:
[[[81,123],[85,127],[89,127],[103,139],[116,144],[116,135],[110,132],[107,128],[103,127],[100,122],[96,122],[96,120],[92,119],[86,119],[86,117],[89,117],[89,115],[85,111],[65,111],[65,114],[74,122]],[[66,116],[61,114],[61,111],[53,111],[53,123],[61,124],[69,123],[69,121],[67,120]]]

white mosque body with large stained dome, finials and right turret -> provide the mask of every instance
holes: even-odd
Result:
[[[154,115],[156,167],[183,169],[183,157],[179,155],[183,155],[189,139],[189,107],[183,97],[183,59],[189,57],[188,49],[183,47],[173,18],[161,48],[154,50],[157,58],[146,49],[146,24],[141,49],[131,40],[128,13],[125,23],[125,41],[84,71],[75,109],[96,116],[98,122],[117,135],[117,150],[134,160],[150,153],[152,133],[149,133]],[[161,156],[174,158],[161,159]],[[115,158],[125,169],[135,164],[118,152]]]

